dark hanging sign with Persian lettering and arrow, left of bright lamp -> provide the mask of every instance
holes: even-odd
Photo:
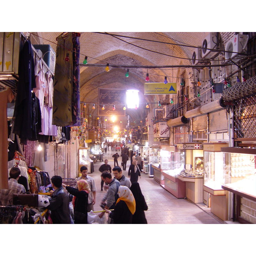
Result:
[[[126,104],[125,89],[99,89],[98,95],[99,116],[125,116],[125,110],[123,109]]]

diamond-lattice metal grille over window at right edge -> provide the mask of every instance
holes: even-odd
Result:
[[[256,138],[256,96],[234,101],[234,129],[236,138]]]

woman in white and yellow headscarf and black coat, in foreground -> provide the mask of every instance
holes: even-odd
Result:
[[[119,198],[116,201],[115,210],[110,212],[106,210],[114,224],[132,224],[132,215],[136,210],[136,203],[132,191],[126,186],[119,186]]]

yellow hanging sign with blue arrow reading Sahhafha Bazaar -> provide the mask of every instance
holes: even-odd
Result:
[[[176,83],[145,83],[144,95],[148,94],[177,94]]]

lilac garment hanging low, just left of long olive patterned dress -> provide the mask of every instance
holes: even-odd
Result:
[[[42,135],[57,136],[57,126],[52,124],[52,108],[44,105],[44,119],[42,118]]]

